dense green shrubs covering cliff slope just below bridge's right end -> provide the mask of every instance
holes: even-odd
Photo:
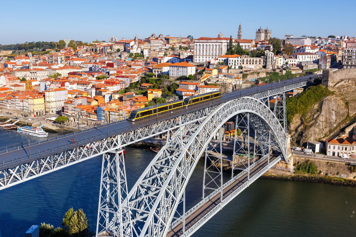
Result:
[[[305,115],[315,103],[329,95],[333,95],[333,92],[327,87],[318,85],[308,88],[298,96],[288,98],[286,106],[287,124],[289,125],[293,122],[296,114]]]

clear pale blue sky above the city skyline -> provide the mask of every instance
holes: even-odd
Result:
[[[192,35],[255,38],[256,28],[284,34],[356,36],[356,1],[1,1],[0,44],[75,39],[83,42],[118,38]],[[7,25],[9,23],[9,25]]]

